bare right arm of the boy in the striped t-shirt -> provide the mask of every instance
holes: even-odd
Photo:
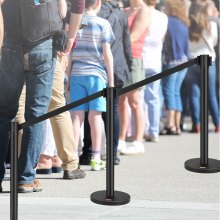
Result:
[[[103,49],[105,66],[106,66],[107,74],[108,74],[108,85],[109,87],[114,87],[113,56],[111,52],[110,43],[103,43],[102,49]]]

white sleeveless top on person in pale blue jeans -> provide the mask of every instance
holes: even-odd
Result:
[[[161,52],[167,32],[168,18],[164,13],[153,9],[149,31],[144,41],[143,62],[145,69],[161,71]]]

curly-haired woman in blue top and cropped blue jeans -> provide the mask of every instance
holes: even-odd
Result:
[[[189,59],[189,19],[186,4],[182,0],[166,0],[165,12],[168,15],[168,31],[164,41],[163,65],[170,69]],[[160,135],[180,135],[182,100],[180,89],[187,69],[178,71],[162,79],[162,92],[166,108],[166,122]]]

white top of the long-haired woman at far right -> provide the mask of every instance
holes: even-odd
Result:
[[[214,21],[210,21],[211,24],[211,34],[204,30],[202,32],[203,38],[199,41],[190,41],[189,42],[189,50],[191,58],[196,58],[200,55],[209,55],[212,57],[212,61],[215,61],[216,54],[214,47],[218,42],[218,27]],[[208,45],[209,46],[208,46]]]

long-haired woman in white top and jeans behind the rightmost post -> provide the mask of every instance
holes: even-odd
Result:
[[[216,53],[214,46],[218,41],[217,24],[210,20],[209,12],[213,7],[211,0],[193,1],[190,7],[190,55],[192,58],[207,54],[212,57],[212,65],[209,66],[209,110],[215,126],[215,132],[220,132],[220,113],[216,94]],[[189,68],[187,74],[189,87],[189,100],[192,117],[191,132],[200,132],[200,70],[195,65]]]

